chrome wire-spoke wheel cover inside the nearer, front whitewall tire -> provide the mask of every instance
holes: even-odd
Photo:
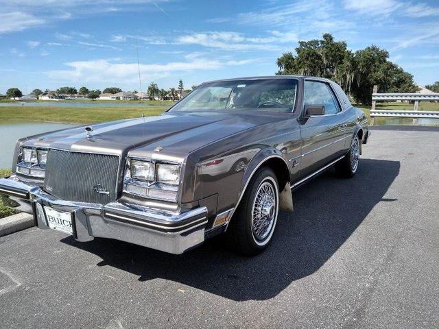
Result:
[[[263,241],[272,231],[277,212],[276,203],[274,186],[270,182],[263,182],[252,206],[252,233],[257,241]]]

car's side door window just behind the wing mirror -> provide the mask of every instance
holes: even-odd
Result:
[[[324,106],[325,114],[340,112],[329,86],[323,82],[305,80],[305,105]]]

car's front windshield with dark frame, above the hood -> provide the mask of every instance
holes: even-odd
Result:
[[[202,84],[169,111],[292,112],[296,79],[228,80]]]

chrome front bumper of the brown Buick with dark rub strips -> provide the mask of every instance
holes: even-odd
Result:
[[[43,212],[37,211],[42,206],[71,212],[73,236],[82,242],[103,237],[182,254],[204,241],[207,223],[204,206],[185,212],[168,212],[121,202],[105,205],[69,202],[14,176],[0,179],[0,193],[18,204],[15,209],[34,215],[38,228],[49,228],[45,216],[41,215]]]

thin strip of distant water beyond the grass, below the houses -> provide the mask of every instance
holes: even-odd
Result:
[[[105,108],[105,107],[139,107],[145,108],[149,106],[169,106],[169,103],[139,103],[133,101],[132,103],[117,103],[115,101],[108,101],[108,103],[95,102],[77,102],[77,101],[16,101],[13,103],[0,103],[1,106],[65,106],[69,108]]]

